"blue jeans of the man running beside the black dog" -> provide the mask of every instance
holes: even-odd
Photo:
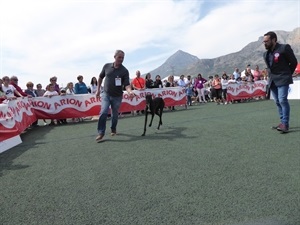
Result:
[[[98,133],[105,134],[106,130],[106,120],[108,115],[109,106],[111,106],[111,129],[113,131],[117,130],[119,108],[122,103],[123,96],[112,97],[107,93],[101,95],[101,111],[98,120]]]

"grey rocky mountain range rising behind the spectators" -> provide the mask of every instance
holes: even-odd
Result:
[[[300,27],[291,32],[275,32],[278,42],[290,44],[298,61],[300,61]],[[262,58],[265,52],[262,41],[263,37],[261,36],[257,41],[247,44],[238,52],[213,59],[199,59],[197,56],[178,50],[165,63],[150,71],[150,73],[153,77],[159,74],[161,78],[169,75],[180,76],[181,74],[195,76],[198,73],[201,73],[204,77],[208,77],[214,74],[222,74],[223,71],[230,74],[234,71],[235,67],[243,71],[248,64],[251,65],[252,69],[254,69],[255,65],[258,65],[262,69],[266,67]]]

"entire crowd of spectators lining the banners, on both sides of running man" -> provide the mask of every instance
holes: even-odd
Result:
[[[86,85],[83,82],[83,75],[77,76],[75,84],[69,82],[65,88],[60,88],[57,84],[57,77],[53,76],[49,79],[49,84],[43,89],[42,84],[37,84],[34,88],[33,82],[27,82],[26,89],[23,90],[18,85],[17,76],[4,76],[0,79],[0,103],[4,100],[13,100],[18,97],[49,97],[56,95],[75,95],[75,94],[95,94],[97,90],[97,78],[92,77],[90,83]],[[168,88],[168,87],[182,87],[186,91],[187,106],[193,104],[202,104],[207,102],[215,102],[216,104],[227,104],[227,86],[230,83],[248,83],[258,80],[267,80],[267,70],[260,70],[258,66],[255,69],[251,69],[250,65],[247,65],[243,72],[240,72],[239,68],[235,68],[234,71],[228,76],[226,72],[223,72],[222,76],[218,74],[204,78],[201,73],[192,77],[191,75],[181,75],[179,79],[175,80],[173,75],[161,79],[160,75],[156,75],[153,80],[150,73],[145,75],[145,78],[141,76],[140,71],[136,72],[136,77],[132,79],[132,89],[144,90],[151,88]],[[267,96],[268,97],[268,96]],[[231,103],[231,102],[229,102]],[[175,107],[170,107],[170,110],[175,110]],[[80,118],[79,118],[80,119]],[[46,123],[46,121],[44,121]],[[66,123],[65,120],[57,120],[57,124]],[[36,125],[37,121],[33,124]],[[50,125],[54,124],[54,120],[50,122]]]

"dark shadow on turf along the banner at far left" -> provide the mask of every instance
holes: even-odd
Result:
[[[27,129],[21,134],[22,143],[0,154],[0,177],[3,176],[5,170],[26,169],[29,165],[14,164],[14,160],[31,148],[38,148],[37,145],[44,144],[36,142],[36,137],[43,137],[52,127],[40,126]],[[26,143],[26,144],[25,144]]]

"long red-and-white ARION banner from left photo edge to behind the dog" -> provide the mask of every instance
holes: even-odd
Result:
[[[166,106],[184,105],[185,89],[155,88],[134,91],[136,96],[130,98],[123,94],[120,112],[130,112],[145,108],[145,96],[162,97]],[[98,115],[101,108],[101,97],[92,94],[66,95],[35,98],[18,98],[0,104],[0,142],[21,134],[37,119],[64,119]]]

